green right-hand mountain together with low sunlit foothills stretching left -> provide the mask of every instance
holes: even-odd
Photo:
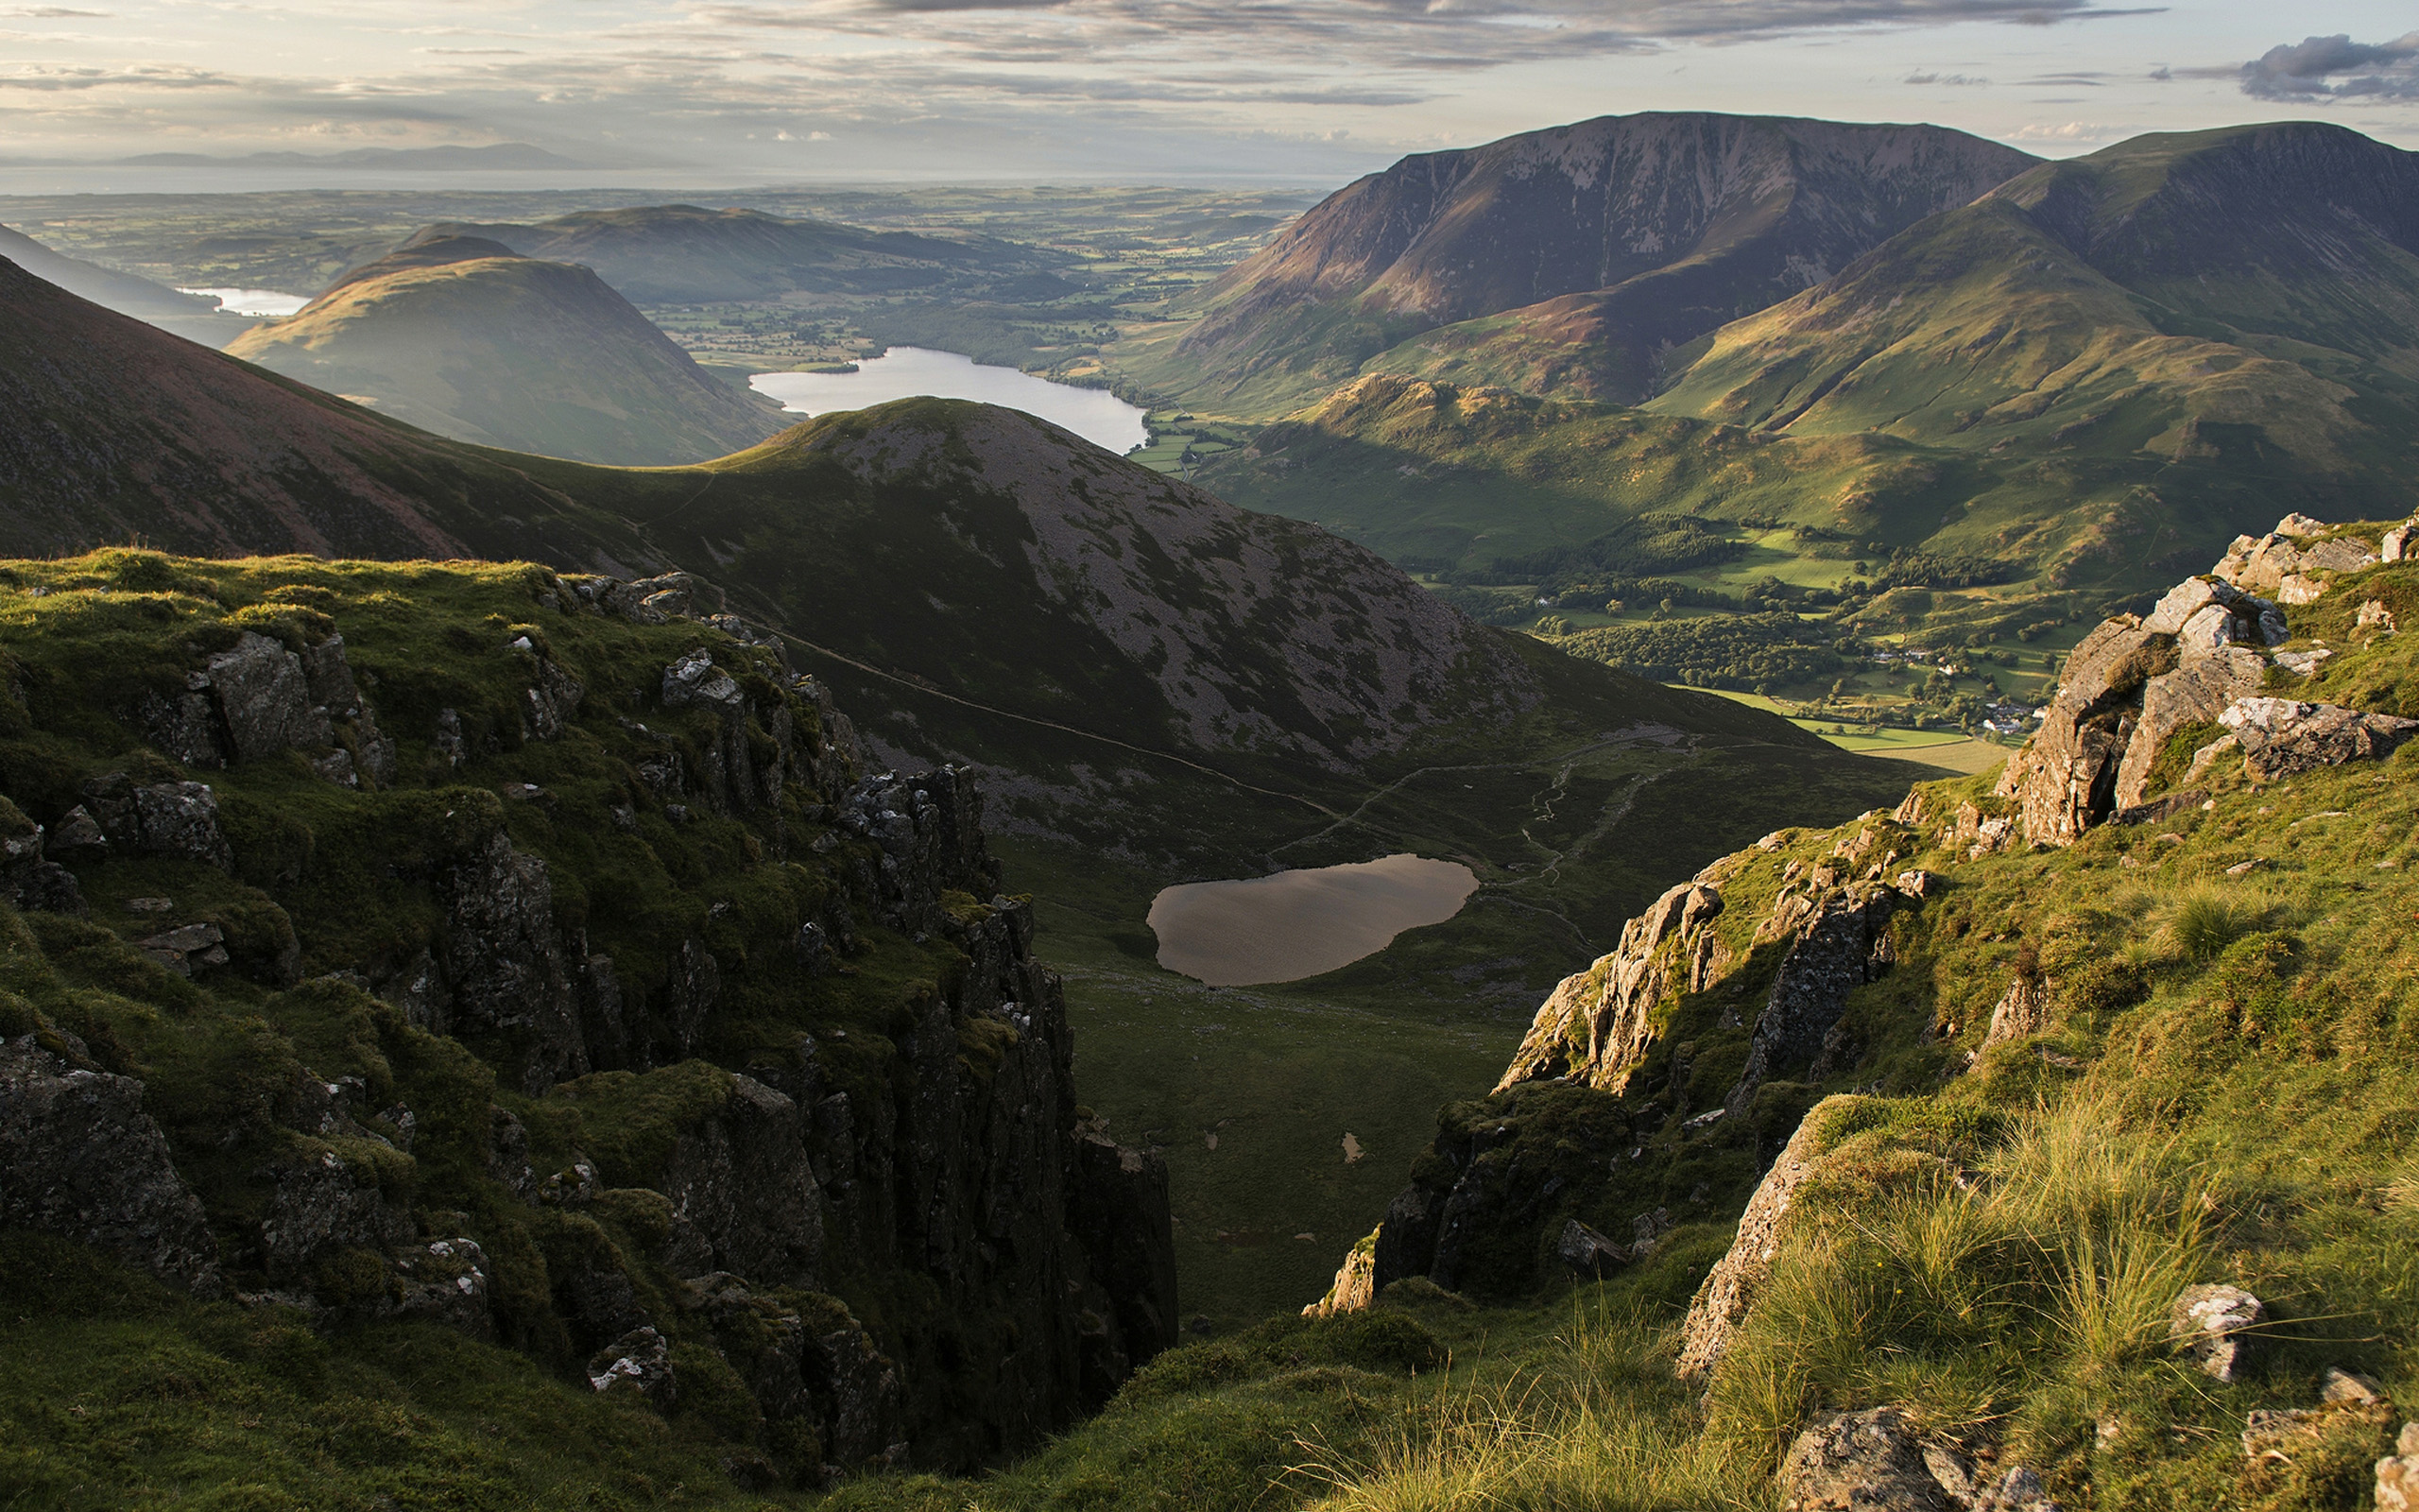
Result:
[[[1664,573],[1688,518],[1763,571],[1923,552],[1906,581],[1959,588],[1867,629],[2097,614],[2284,510],[2419,506],[2419,155],[2337,126],[2136,138],[1667,363],[1643,409],[1372,375],[1202,481],[1480,581]]]

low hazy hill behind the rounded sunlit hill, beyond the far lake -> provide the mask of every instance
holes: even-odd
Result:
[[[537,225],[440,223],[421,235],[486,237],[523,256],[585,264],[641,305],[774,300],[793,290],[922,290],[956,273],[1047,261],[994,240],[956,242],[697,206],[581,210]]]

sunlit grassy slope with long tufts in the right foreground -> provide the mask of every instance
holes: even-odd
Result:
[[[2359,646],[2366,598],[2419,610],[2419,569],[2373,569],[2293,624]],[[2332,665],[2320,697],[2419,714],[2412,663],[2402,639],[2375,639]],[[1971,791],[1940,784],[1928,803]],[[866,1485],[847,1505],[1763,1507],[1814,1410],[1901,1403],[2034,1466],[2068,1507],[2366,1507],[2371,1461],[2419,1401],[2419,1098],[2402,1074],[2419,1040],[2414,835],[2407,748],[2259,789],[2221,779],[2209,810],[2105,827],[2068,852],[1918,854],[1945,890],[1901,914],[1899,963],[1851,994],[1860,1064],[1780,1089],[1880,1096],[1826,1110],[1824,1171],[1703,1403],[1669,1377],[1672,1328],[1722,1231],[1684,1227],[1655,1263],[1577,1292],[1546,1280],[1493,1309],[1425,1282],[1389,1292],[1372,1318],[1398,1311],[1396,1328],[1418,1321],[1451,1345],[1449,1381],[1328,1367],[1338,1323],[1270,1328],[1168,1355],[1016,1473]],[[1797,832],[1725,890],[1761,898],[1831,839]],[[2242,859],[2262,864],[2228,876]],[[1969,1067],[2027,963],[2049,1026]],[[1672,1040],[1713,1028],[1715,997],[1672,1004],[1643,1079]],[[1555,1096],[1447,1118],[1524,1123]],[[1662,1130],[1650,1164],[1717,1178],[1734,1212],[1754,1164],[1725,1161],[1727,1142]],[[1597,1217],[1611,1229],[1618,1214]],[[2196,1280],[2269,1306],[2242,1384],[2165,1345],[2167,1306]],[[2329,1364],[2375,1377],[2400,1410],[2337,1410],[2284,1456],[2245,1459],[2247,1415],[2313,1406]]]

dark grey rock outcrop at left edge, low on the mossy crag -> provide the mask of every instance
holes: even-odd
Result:
[[[0,1222],[218,1294],[218,1243],[143,1084],[75,1067],[36,1035],[0,1043]]]

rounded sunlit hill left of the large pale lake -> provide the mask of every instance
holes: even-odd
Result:
[[[479,237],[414,240],[227,351],[440,435],[585,462],[699,462],[781,428],[588,269]]]

